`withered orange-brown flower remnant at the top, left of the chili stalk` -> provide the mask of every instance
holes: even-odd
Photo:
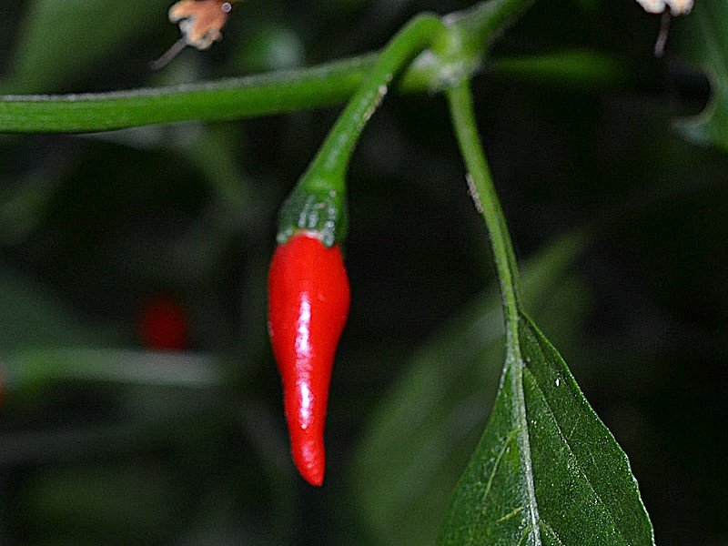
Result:
[[[231,2],[223,0],[180,0],[169,8],[169,20],[179,24],[182,37],[167,52],[152,63],[152,69],[166,66],[187,45],[207,49],[222,39],[220,30],[232,10]]]

